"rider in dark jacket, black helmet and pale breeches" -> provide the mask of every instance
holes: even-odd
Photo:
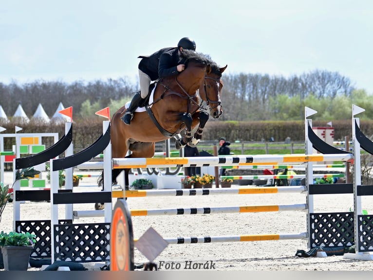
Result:
[[[149,94],[149,85],[152,80],[172,76],[185,69],[185,65],[179,58],[179,54],[183,49],[195,51],[196,43],[194,40],[184,37],[179,41],[177,47],[163,48],[148,57],[139,57],[142,59],[139,63],[141,94],[137,92],[134,95],[130,107],[122,116],[122,120],[125,124],[131,124],[133,112],[139,105],[143,106],[143,103]]]

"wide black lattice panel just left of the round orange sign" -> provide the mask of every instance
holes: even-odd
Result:
[[[55,260],[110,260],[110,223],[55,225]]]

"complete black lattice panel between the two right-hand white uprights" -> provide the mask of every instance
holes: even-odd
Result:
[[[310,213],[310,247],[354,245],[354,212]]]

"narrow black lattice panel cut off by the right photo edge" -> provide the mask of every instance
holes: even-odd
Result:
[[[373,217],[358,215],[359,252],[373,252]]]

